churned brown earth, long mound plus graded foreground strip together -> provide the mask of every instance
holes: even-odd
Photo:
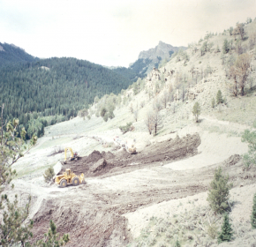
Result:
[[[125,213],[207,191],[219,165],[235,187],[255,183],[255,170],[243,169],[239,155],[200,169],[171,168],[171,161],[196,155],[199,145],[200,136],[194,134],[147,146],[135,155],[93,152],[69,162],[64,168],[84,172],[87,184],[64,189],[53,185],[34,214],[34,236],[40,238],[53,220],[58,232],[70,234],[67,246],[125,246],[132,241]],[[37,193],[34,201],[39,198]]]

